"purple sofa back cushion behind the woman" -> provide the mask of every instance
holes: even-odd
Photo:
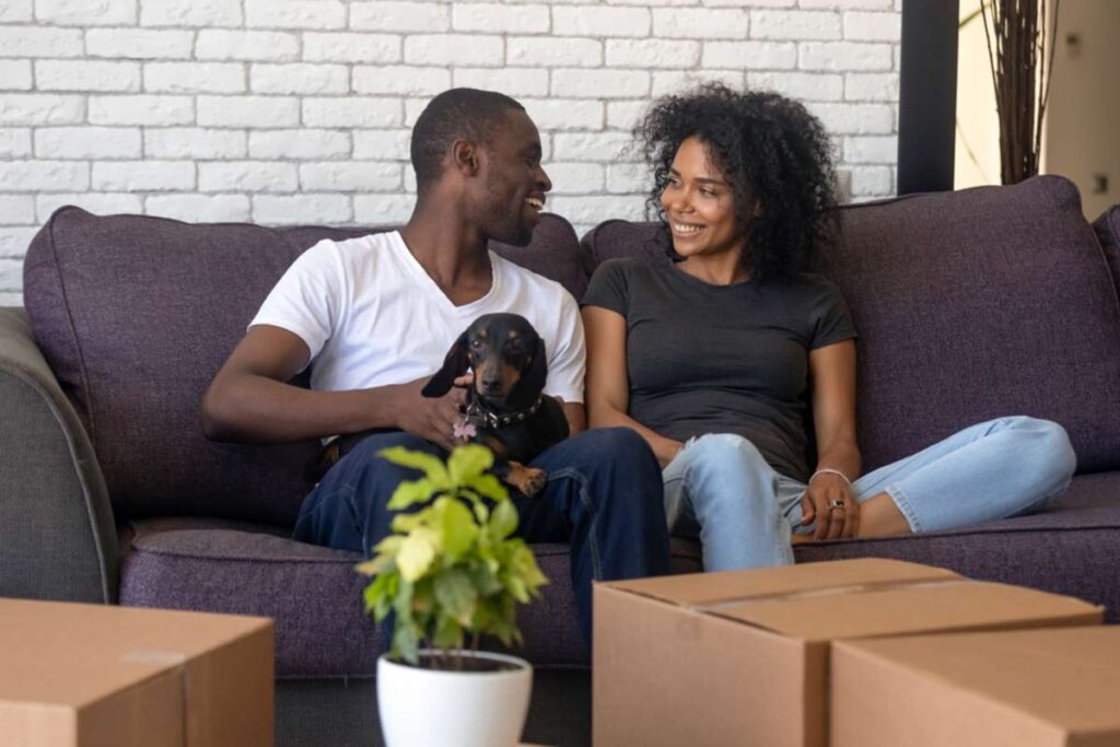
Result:
[[[851,205],[814,270],[860,333],[865,470],[1005,414],[1064,426],[1079,469],[1120,468],[1120,309],[1076,187],[1039,177]],[[651,224],[603,224],[589,265],[664,251]]]

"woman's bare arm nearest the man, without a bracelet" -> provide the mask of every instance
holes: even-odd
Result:
[[[626,319],[597,306],[584,307],[587,335],[587,421],[590,428],[633,428],[644,438],[662,466],[683,446],[660,436],[626,414],[629,376],[626,373]]]

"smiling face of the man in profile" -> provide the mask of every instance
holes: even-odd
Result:
[[[475,220],[495,241],[524,246],[541,221],[544,193],[552,189],[541,168],[541,137],[521,110],[511,109],[483,148]]]

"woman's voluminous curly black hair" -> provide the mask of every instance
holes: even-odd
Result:
[[[653,166],[646,202],[661,221],[661,193],[681,142],[694,137],[708,147],[731,185],[740,225],[748,226],[743,262],[755,280],[803,271],[816,242],[836,227],[832,146],[820,120],[796,101],[707,83],[654,102],[634,137]]]

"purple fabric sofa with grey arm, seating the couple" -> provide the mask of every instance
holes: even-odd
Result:
[[[799,545],[1072,594],[1120,615],[1120,206],[1090,225],[1068,181],[916,195],[840,211],[821,272],[851,305],[865,468],[1008,413],[1068,430],[1079,475],[1049,511],[956,532]],[[1095,228],[1095,231],[1094,231]],[[371,744],[381,648],[356,555],[288,539],[314,442],[214,443],[203,391],[288,264],[358,230],[193,225],[55,213],[0,310],[0,595],[265,615],[281,744]],[[664,251],[651,224],[578,242],[548,216],[495,246],[579,297],[605,259]],[[945,496],[951,501],[952,496]],[[589,740],[587,655],[562,545],[522,613],[538,665],[526,739]],[[694,544],[674,544],[698,570]]]

